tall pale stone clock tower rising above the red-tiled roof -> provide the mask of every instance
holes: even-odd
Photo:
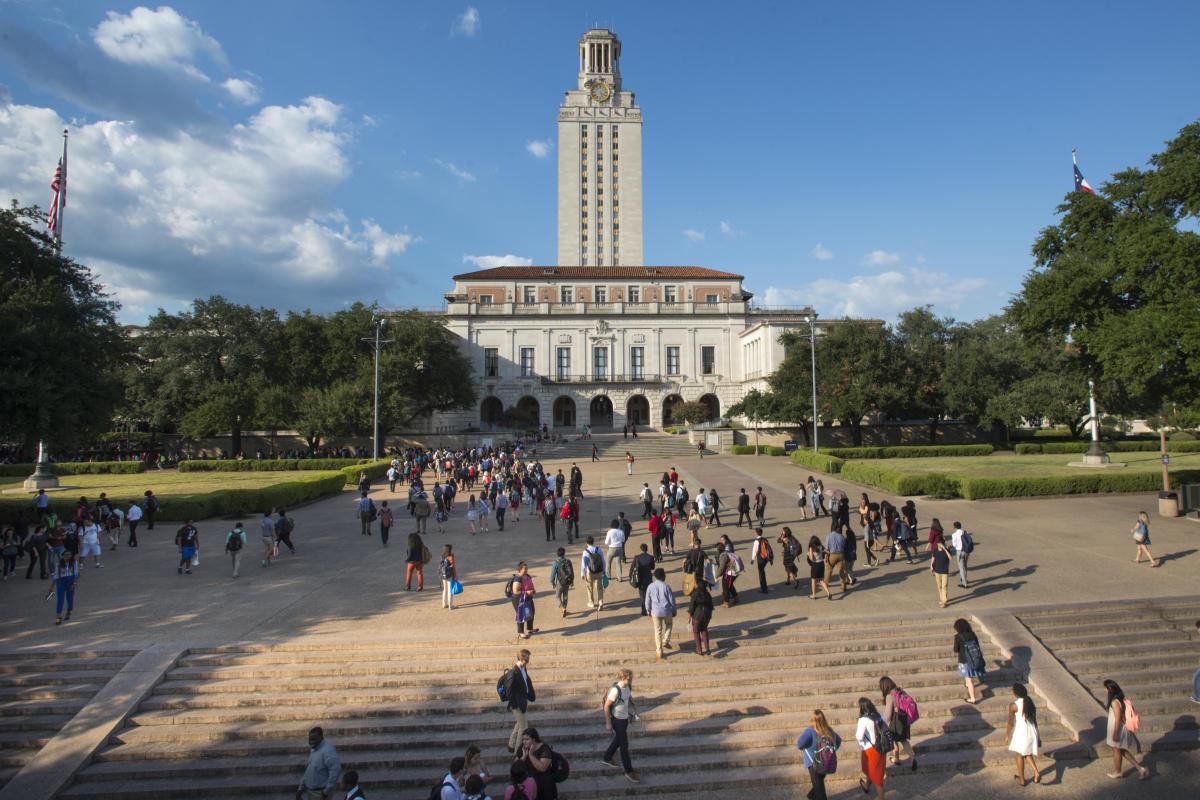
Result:
[[[641,266],[642,110],[620,85],[620,40],[580,38],[576,88],[558,109],[558,264]]]

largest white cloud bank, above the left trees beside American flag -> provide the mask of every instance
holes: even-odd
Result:
[[[0,106],[0,197],[44,205],[64,126],[54,109]],[[217,290],[278,307],[361,299],[366,276],[386,275],[420,237],[354,224],[335,205],[350,175],[347,127],[322,97],[204,136],[72,125],[66,252],[128,301],[128,321]]]

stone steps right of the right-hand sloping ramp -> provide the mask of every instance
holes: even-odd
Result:
[[[1144,748],[1200,746],[1200,705],[1190,702],[1200,597],[1033,610],[1019,619],[1097,703],[1106,697],[1105,679],[1121,685],[1141,716]]]

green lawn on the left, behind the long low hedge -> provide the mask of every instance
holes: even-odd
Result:
[[[288,471],[288,473],[176,473],[175,470],[150,470],[140,475],[61,475],[59,482],[64,486],[76,486],[77,489],[54,492],[55,498],[71,497],[77,500],[85,495],[95,501],[101,492],[107,492],[113,500],[122,503],[138,499],[146,489],[152,489],[162,498],[179,494],[205,494],[221,489],[260,489],[276,483],[286,483],[301,477],[325,477],[338,475],[337,471]],[[19,489],[24,479],[8,479],[0,489]],[[6,498],[19,498],[19,494],[6,494]]]

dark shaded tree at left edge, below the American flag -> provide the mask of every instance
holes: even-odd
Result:
[[[0,437],[31,457],[88,444],[121,399],[119,305],[59,253],[36,207],[0,210]]]

